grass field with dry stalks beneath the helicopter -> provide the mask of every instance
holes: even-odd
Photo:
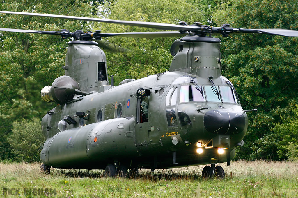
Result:
[[[204,166],[104,178],[101,170],[51,168],[46,175],[40,165],[0,162],[2,197],[298,197],[295,162],[232,161],[218,164],[225,178],[207,180],[201,178]]]

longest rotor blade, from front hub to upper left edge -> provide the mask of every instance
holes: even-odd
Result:
[[[66,15],[39,14],[39,13],[29,13],[29,12],[0,11],[0,13],[39,16],[39,17],[64,18],[64,19],[72,19],[72,20],[86,20],[86,21],[103,22],[103,23],[116,23],[116,24],[122,24],[122,25],[139,26],[139,27],[155,28],[155,29],[162,29],[162,30],[177,30],[177,31],[201,30],[201,27],[198,27],[198,26],[182,26],[182,25],[174,25],[174,24],[167,24],[167,23],[145,22],[145,21],[142,22],[142,21],[112,20],[112,19],[76,17],[76,16],[66,16]]]

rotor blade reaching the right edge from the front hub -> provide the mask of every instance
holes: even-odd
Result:
[[[243,29],[238,28],[241,33],[258,33],[258,34],[270,34],[286,37],[298,37],[298,31],[287,29]]]

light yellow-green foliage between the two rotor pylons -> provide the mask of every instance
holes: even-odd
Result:
[[[134,8],[131,7],[134,5]],[[200,10],[203,6],[185,0],[119,0],[105,4],[100,14],[109,19],[134,20],[178,24],[179,21],[207,23],[207,16]],[[108,10],[108,12],[107,12]],[[136,26],[99,24],[95,29],[103,32],[156,31]],[[169,69],[173,56],[169,53],[175,40],[167,38],[126,38],[109,37],[109,42],[128,49],[126,53],[106,52],[109,73],[117,74],[115,82],[126,78],[138,79],[147,75],[165,72]]]

